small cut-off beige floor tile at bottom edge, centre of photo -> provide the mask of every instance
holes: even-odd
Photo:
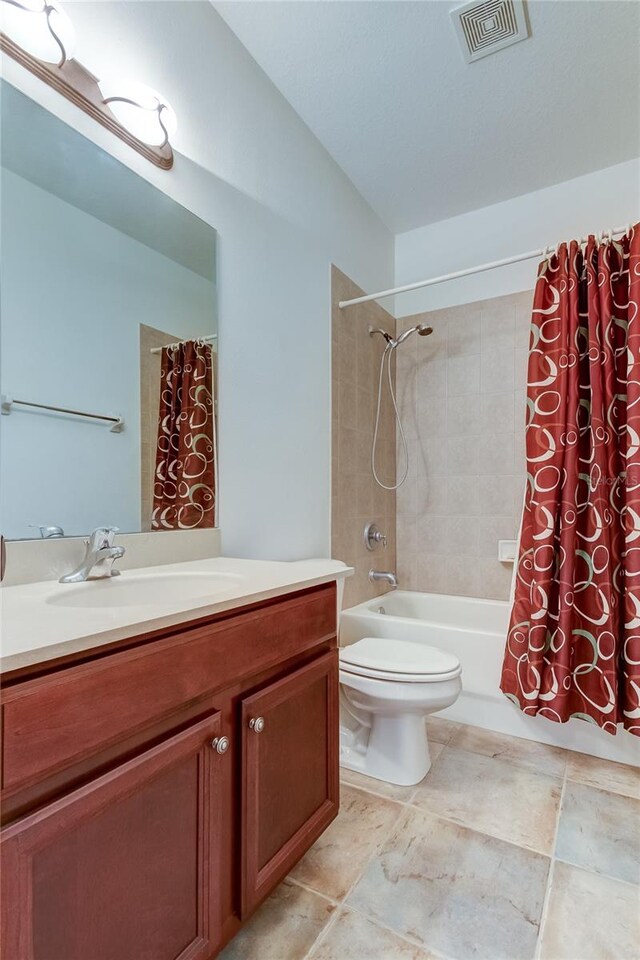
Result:
[[[309,954],[309,960],[430,960],[430,957],[422,947],[402,940],[344,907]]]

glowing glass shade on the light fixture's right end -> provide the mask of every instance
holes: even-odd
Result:
[[[133,80],[99,80],[103,101],[116,120],[138,140],[163,147],[176,132],[178,119],[164,97]]]

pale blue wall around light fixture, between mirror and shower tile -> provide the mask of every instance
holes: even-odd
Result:
[[[162,90],[170,173],[7,62],[5,77],[219,232],[220,524],[228,554],[330,550],[330,263],[393,282],[393,238],[213,7],[71,3],[78,58]]]

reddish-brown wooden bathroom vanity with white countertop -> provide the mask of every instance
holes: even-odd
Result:
[[[45,596],[54,635],[65,617],[76,634],[111,621],[6,660],[6,960],[214,957],[336,816],[336,579],[349,571],[271,566],[297,572],[154,608],[146,630],[117,607],[139,576],[2,590],[16,649]],[[104,588],[115,612],[98,617],[89,591]]]

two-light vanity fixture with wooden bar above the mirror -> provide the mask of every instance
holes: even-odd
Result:
[[[75,31],[57,3],[0,0],[0,50],[163,170],[173,166],[174,111],[150,87],[99,81],[74,59]]]

